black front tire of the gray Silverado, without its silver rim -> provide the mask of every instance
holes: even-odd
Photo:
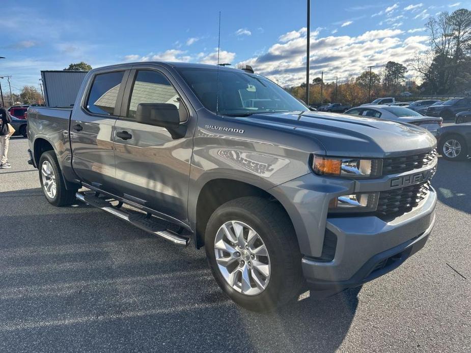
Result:
[[[218,229],[228,221],[251,226],[264,242],[270,258],[270,279],[259,294],[248,296],[235,290],[221,274],[214,251]],[[269,311],[297,298],[302,285],[301,253],[291,221],[280,204],[255,196],[241,197],[221,205],[211,215],[205,232],[209,266],[217,283],[238,305],[252,311]]]

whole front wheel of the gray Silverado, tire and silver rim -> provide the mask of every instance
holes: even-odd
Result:
[[[278,203],[248,196],[221,205],[208,221],[205,247],[221,289],[248,310],[272,310],[300,292],[301,254]]]

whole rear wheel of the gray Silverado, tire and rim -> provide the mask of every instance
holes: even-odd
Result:
[[[39,180],[47,201],[54,206],[67,206],[75,201],[78,189],[66,189],[61,167],[53,151],[46,151],[39,159]]]

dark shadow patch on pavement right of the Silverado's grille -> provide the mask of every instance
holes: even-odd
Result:
[[[471,213],[471,202],[467,195],[470,171],[471,159],[451,162],[439,158],[437,172],[432,179],[438,200],[456,210]]]

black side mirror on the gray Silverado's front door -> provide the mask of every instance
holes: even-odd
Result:
[[[140,103],[137,104],[136,122],[177,129],[180,126],[180,114],[174,104]]]

